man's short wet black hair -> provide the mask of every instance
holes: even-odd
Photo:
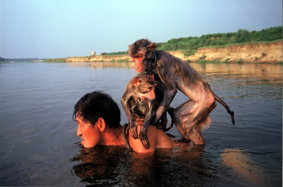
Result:
[[[103,118],[107,126],[117,128],[120,125],[121,113],[118,104],[103,91],[86,93],[74,106],[73,120],[82,117],[84,122],[93,126],[99,118]]]

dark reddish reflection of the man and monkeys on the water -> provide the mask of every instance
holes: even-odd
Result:
[[[200,185],[212,177],[206,166],[202,165],[202,152],[203,147],[158,150],[155,155],[129,152],[119,146],[82,148],[80,154],[73,158],[73,161],[79,160],[81,163],[75,165],[73,170],[87,184]]]

